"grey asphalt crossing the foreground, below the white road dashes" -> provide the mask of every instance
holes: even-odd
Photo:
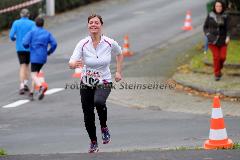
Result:
[[[79,99],[77,90],[66,90],[42,102],[1,109],[1,147],[9,154],[87,152],[89,139]],[[208,115],[108,106],[112,142],[100,144],[101,152],[201,147],[208,139]],[[239,137],[239,120],[225,117],[229,137]],[[99,125],[97,131],[101,143]]]

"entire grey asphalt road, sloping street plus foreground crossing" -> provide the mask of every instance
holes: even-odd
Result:
[[[187,10],[192,11],[193,26],[199,27],[205,18],[203,1],[178,0],[114,0],[89,5],[73,13],[70,20],[59,20],[49,25],[58,40],[55,55],[43,68],[51,88],[64,88],[72,83],[67,67],[69,56],[86,32],[86,17],[96,11],[104,18],[104,33],[122,44],[125,34],[131,41],[136,56],[147,50],[167,44],[189,33],[181,31]],[[18,62],[13,43],[0,44],[0,105],[4,106],[27,96],[19,96]],[[176,53],[168,57],[169,66],[175,65]],[[171,65],[172,63],[172,65]],[[168,73],[161,75],[168,77]],[[176,104],[177,107],[177,104]],[[226,117],[229,136],[239,137],[239,118]],[[138,110],[109,103],[109,126],[112,143],[100,145],[102,152],[121,150],[175,148],[201,146],[208,138],[209,116],[156,110]],[[98,126],[99,131],[99,126]],[[64,90],[39,102],[34,101],[16,108],[0,108],[0,148],[9,154],[85,153],[88,137],[78,90]],[[100,133],[98,132],[98,137]],[[234,139],[234,140],[235,140]]]

